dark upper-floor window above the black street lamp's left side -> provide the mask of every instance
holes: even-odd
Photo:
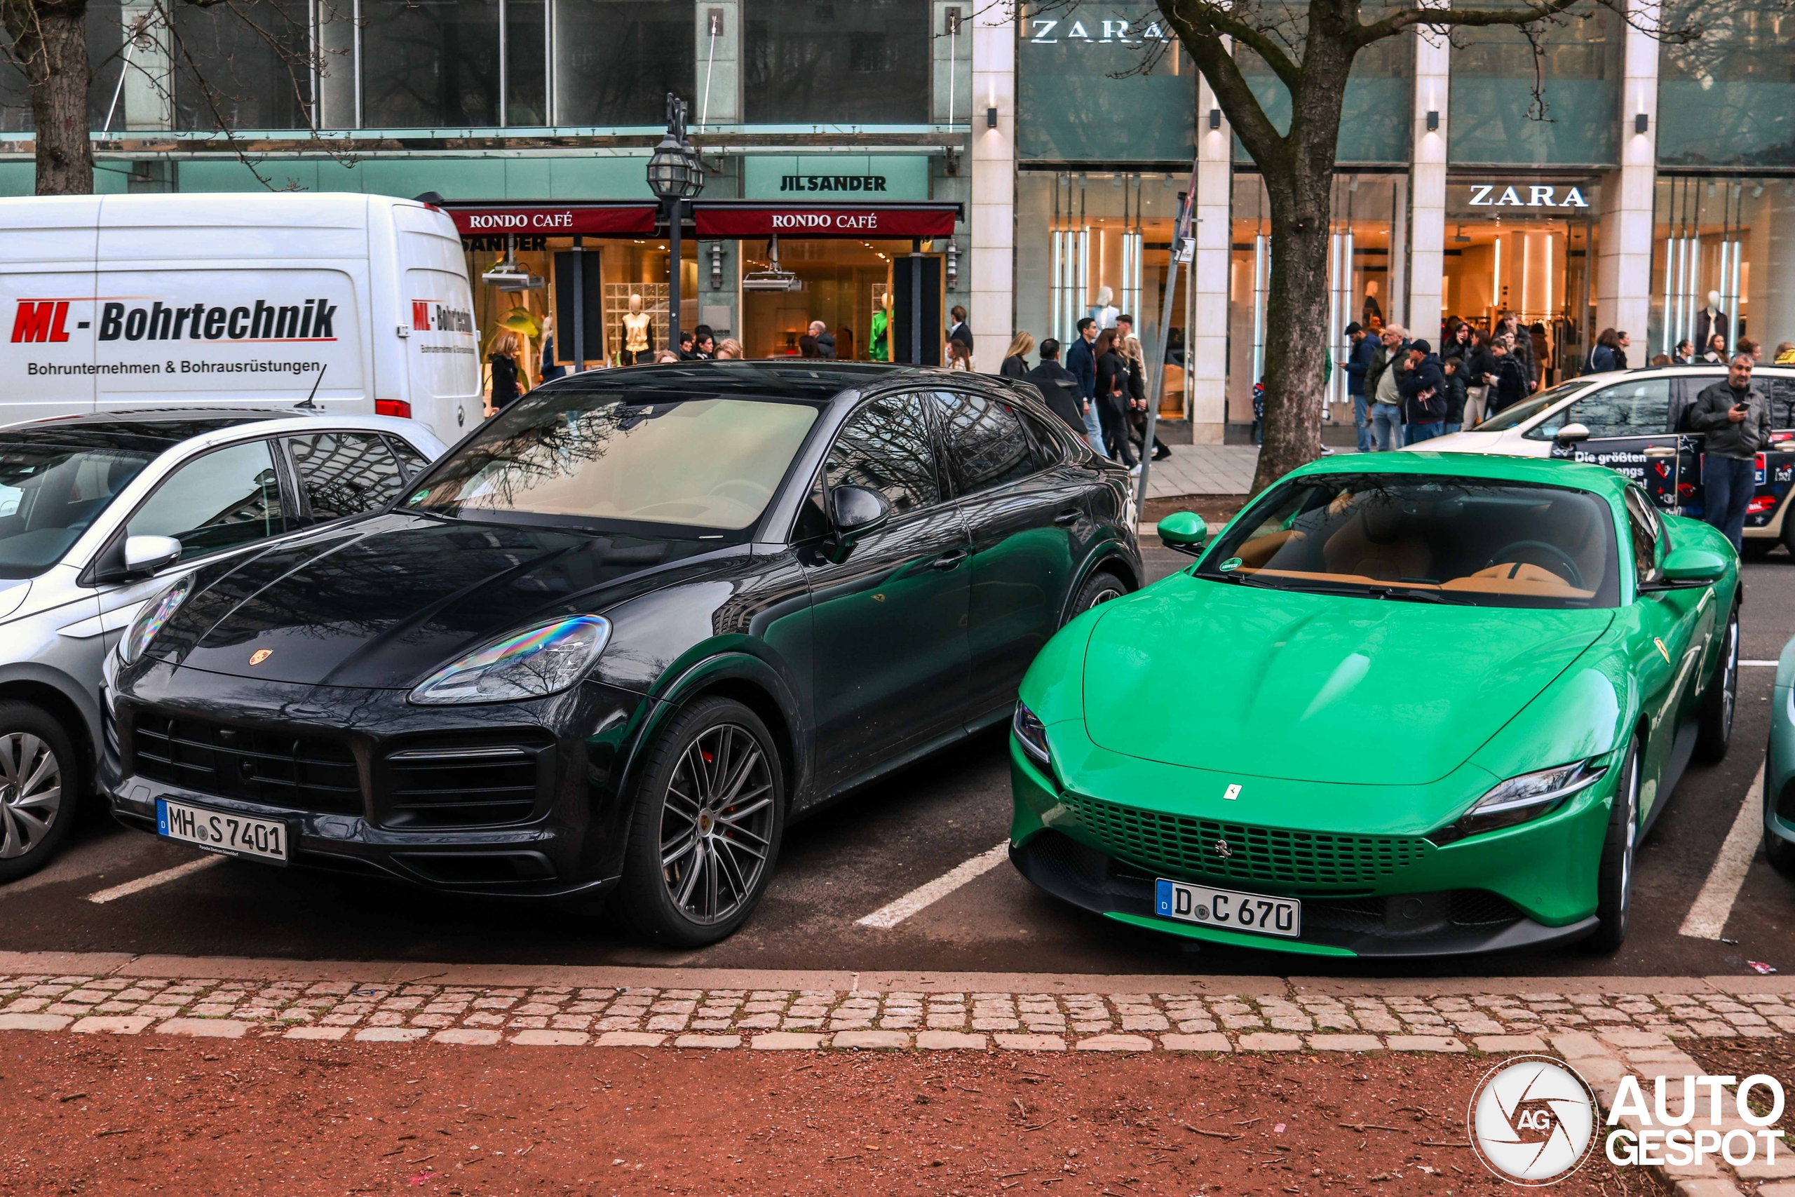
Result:
[[[555,124],[662,124],[693,92],[695,20],[693,0],[556,0]]]

